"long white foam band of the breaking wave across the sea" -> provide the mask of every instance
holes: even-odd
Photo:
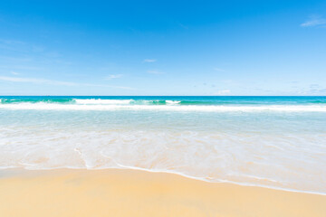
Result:
[[[168,105],[129,105],[131,100],[76,99],[77,104],[59,103],[17,103],[0,104],[0,109],[35,109],[35,110],[172,110],[172,111],[288,111],[288,112],[326,112],[326,106],[312,105],[271,105],[271,106],[191,106],[168,102]],[[125,105],[123,105],[125,104]]]

